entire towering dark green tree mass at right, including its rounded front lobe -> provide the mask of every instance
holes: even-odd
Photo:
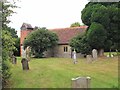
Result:
[[[89,2],[85,6],[82,10],[81,19],[88,28],[83,37],[86,39],[81,39],[80,45],[84,47],[90,46],[92,49],[96,48],[99,53],[103,49],[107,51],[120,49],[120,30],[118,29],[120,24],[119,4],[120,2]],[[79,39],[76,40],[79,41]],[[85,44],[85,41],[87,41],[87,44]],[[83,50],[83,48],[78,49],[79,51]]]

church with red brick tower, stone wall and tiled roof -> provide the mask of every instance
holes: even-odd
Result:
[[[51,32],[57,34],[59,41],[58,45],[48,51],[44,52],[44,57],[60,57],[60,58],[71,58],[72,50],[69,46],[69,41],[80,33],[85,33],[87,26],[70,27],[70,28],[57,28],[48,29]],[[20,36],[20,54],[22,56],[23,42],[27,35],[35,29],[27,23],[23,23],[21,26]],[[77,54],[77,57],[81,57],[81,54]]]

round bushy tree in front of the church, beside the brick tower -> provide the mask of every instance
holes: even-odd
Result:
[[[55,33],[45,28],[39,28],[30,33],[24,41],[24,48],[31,47],[35,57],[42,57],[43,52],[57,44],[58,37]]]

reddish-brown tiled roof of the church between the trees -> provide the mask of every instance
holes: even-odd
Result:
[[[87,26],[58,28],[58,29],[49,29],[49,30],[55,32],[58,35],[59,38],[58,44],[68,44],[73,37],[75,37],[80,33],[84,33],[86,29]]]

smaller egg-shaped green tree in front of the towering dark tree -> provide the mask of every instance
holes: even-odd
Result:
[[[105,41],[107,39],[107,32],[103,25],[99,23],[92,23],[87,32],[87,40],[92,49],[97,49],[101,52],[104,49]]]

